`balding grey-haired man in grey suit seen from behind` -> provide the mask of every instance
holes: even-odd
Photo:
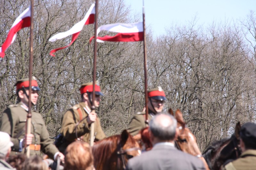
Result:
[[[155,115],[149,122],[149,134],[153,144],[152,150],[129,159],[127,170],[205,169],[200,159],[174,147],[178,129],[177,121],[172,115]]]

